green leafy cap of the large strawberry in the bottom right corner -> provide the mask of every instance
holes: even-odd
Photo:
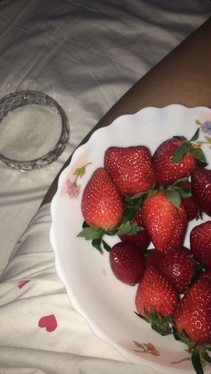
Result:
[[[211,344],[199,345],[195,341],[191,341],[187,336],[185,330],[178,331],[176,325],[173,322],[173,335],[176,340],[179,340],[187,344],[187,352],[191,354],[191,360],[193,367],[197,374],[203,374],[202,359],[208,363],[211,363],[211,357],[208,355],[207,350],[211,351]]]

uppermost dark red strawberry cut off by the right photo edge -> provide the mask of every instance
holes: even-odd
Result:
[[[211,217],[211,170],[195,169],[191,173],[191,185],[199,208]]]

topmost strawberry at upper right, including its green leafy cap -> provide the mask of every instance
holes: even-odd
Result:
[[[159,145],[152,157],[158,186],[162,183],[172,184],[186,177],[197,165],[207,165],[202,150],[191,144],[198,138],[198,134],[199,129],[190,141],[185,137],[173,137]]]

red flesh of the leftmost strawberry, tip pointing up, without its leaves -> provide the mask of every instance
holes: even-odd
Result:
[[[122,220],[122,197],[105,169],[98,168],[92,174],[84,188],[81,211],[89,226],[102,229],[111,229]]]

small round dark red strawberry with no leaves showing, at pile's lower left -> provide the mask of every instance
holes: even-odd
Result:
[[[140,281],[145,270],[143,252],[133,243],[115,244],[109,254],[111,269],[123,283],[134,285]]]

